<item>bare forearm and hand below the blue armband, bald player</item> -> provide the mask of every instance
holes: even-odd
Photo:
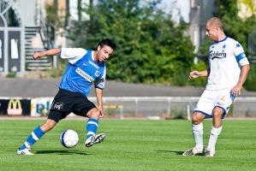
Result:
[[[249,70],[250,70],[249,64],[241,66],[241,74],[240,74],[239,80],[231,90],[232,94],[234,94],[235,96],[241,95],[241,88],[244,82],[247,80],[247,74],[249,73]]]

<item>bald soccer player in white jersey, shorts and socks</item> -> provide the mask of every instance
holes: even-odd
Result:
[[[222,119],[228,113],[235,97],[241,94],[241,88],[250,69],[244,50],[235,39],[226,37],[223,22],[213,17],[205,24],[205,35],[214,40],[209,48],[209,68],[204,71],[192,71],[189,79],[208,76],[205,91],[193,110],[192,132],[195,145],[183,153],[193,156],[199,153],[205,156],[215,155],[217,137],[222,131]],[[211,134],[207,147],[203,144],[203,121],[212,118]]]

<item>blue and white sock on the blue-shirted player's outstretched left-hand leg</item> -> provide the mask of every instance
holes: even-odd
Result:
[[[39,140],[44,134],[45,132],[40,127],[36,127],[33,130],[33,132],[27,137],[27,140],[25,141],[25,143],[21,145],[19,150],[24,150],[26,148],[30,149],[30,147],[33,144],[35,144],[35,142],[37,142],[37,140]]]

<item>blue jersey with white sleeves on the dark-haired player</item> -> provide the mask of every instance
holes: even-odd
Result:
[[[80,92],[86,97],[93,84],[99,89],[104,89],[105,62],[95,62],[93,50],[62,48],[60,57],[68,59],[68,67],[63,74],[59,88]]]

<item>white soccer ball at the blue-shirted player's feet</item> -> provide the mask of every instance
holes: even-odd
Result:
[[[63,131],[60,137],[61,144],[66,148],[74,147],[79,140],[78,134],[71,129]]]

